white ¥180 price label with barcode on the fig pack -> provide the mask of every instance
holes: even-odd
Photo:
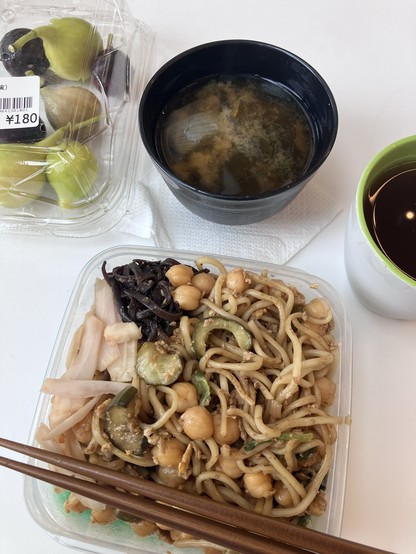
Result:
[[[36,127],[39,123],[40,78],[0,77],[0,129]]]

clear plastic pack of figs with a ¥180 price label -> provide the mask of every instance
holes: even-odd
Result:
[[[73,18],[87,22],[88,29],[81,33],[79,27],[70,28],[68,20]],[[56,24],[63,21],[63,25]],[[38,61],[33,64],[31,58],[29,70],[23,62],[18,69],[15,64],[7,70],[8,62],[12,63],[7,54],[9,43],[2,47],[0,231],[97,235],[114,226],[128,210],[130,187],[139,167],[137,106],[146,84],[153,34],[133,18],[124,0],[2,3],[1,37],[19,28],[44,26],[46,32],[52,28],[56,33],[48,39],[42,35],[49,67],[38,52]],[[33,49],[36,41],[39,39],[22,48]],[[58,50],[57,43],[65,43],[65,47]],[[62,59],[79,44],[82,48],[71,59],[69,69],[64,67]],[[22,48],[15,49],[15,56],[23,57]],[[101,58],[98,65],[97,58]],[[89,121],[89,125],[77,131],[81,121]],[[45,144],[16,145],[24,133],[32,139],[30,131],[41,122],[47,137],[56,128],[64,127],[63,132],[53,140],[45,139]],[[39,139],[44,141],[44,135],[36,141]],[[71,165],[73,158],[76,163]]]

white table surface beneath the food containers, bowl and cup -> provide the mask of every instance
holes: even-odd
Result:
[[[339,132],[319,178],[343,210],[290,265],[329,281],[353,327],[353,423],[342,536],[416,552],[416,321],[362,307],[344,270],[343,238],[360,172],[416,131],[414,0],[129,0],[174,55],[198,43],[251,38],[292,50],[330,85]],[[143,242],[0,235],[0,435],[26,441],[39,387],[74,281],[104,248]],[[189,244],[189,249],[192,249]],[[230,252],[232,254],[232,252]],[[22,478],[0,469],[0,552],[66,554],[27,513]]]

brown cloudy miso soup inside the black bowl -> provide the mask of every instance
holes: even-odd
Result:
[[[313,154],[311,123],[283,86],[255,77],[196,82],[163,110],[161,154],[182,181],[214,194],[268,193],[295,181]]]

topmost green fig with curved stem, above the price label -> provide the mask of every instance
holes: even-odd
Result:
[[[103,49],[100,34],[88,21],[79,17],[62,17],[29,31],[10,45],[9,51],[18,52],[35,38],[43,41],[50,69],[69,81],[88,80],[92,64]]]

